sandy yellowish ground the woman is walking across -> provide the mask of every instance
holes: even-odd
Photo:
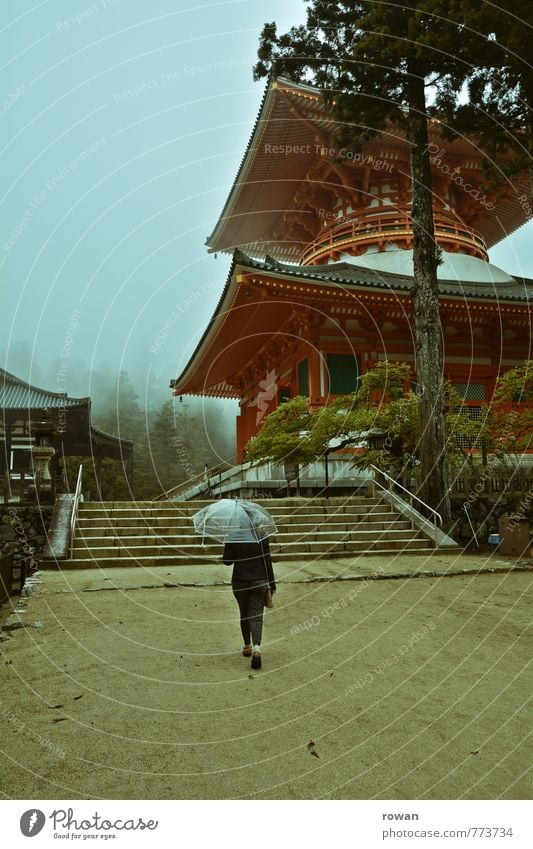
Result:
[[[530,798],[533,573],[511,566],[280,567],[257,672],[219,565],[42,572],[20,617],[42,627],[0,643],[0,792]]]

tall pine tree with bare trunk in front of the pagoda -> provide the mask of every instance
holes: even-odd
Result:
[[[450,97],[458,74],[457,26],[447,4],[310,0],[307,25],[278,36],[265,24],[254,71],[309,80],[339,123],[339,141],[360,144],[393,124],[411,154],[416,373],[421,391],[422,498],[450,522],[442,332],[428,151],[427,91]]]

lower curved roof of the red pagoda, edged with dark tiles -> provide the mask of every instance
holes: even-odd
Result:
[[[266,290],[267,297],[255,297],[250,280]],[[239,398],[232,375],[235,364],[244,368],[272,336],[280,332],[288,317],[287,299],[295,307],[309,303],[341,299],[358,306],[372,299],[404,304],[412,308],[413,278],[357,266],[353,262],[322,266],[295,266],[272,257],[264,261],[235,251],[233,263],[219,303],[200,342],[180,376],[171,381],[174,395],[204,395]],[[249,291],[250,289],[250,291]],[[486,281],[439,281],[441,303],[464,309],[484,304],[488,309],[513,311],[529,317],[533,300],[533,280],[510,278],[487,284]],[[527,319],[529,320],[529,318]]]

